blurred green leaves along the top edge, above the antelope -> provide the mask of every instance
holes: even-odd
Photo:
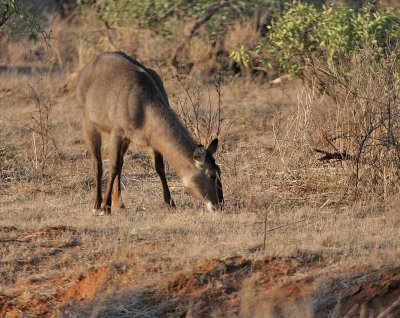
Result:
[[[173,30],[182,23],[194,23],[210,12],[215,6],[221,6],[205,23],[207,36],[215,38],[218,28],[229,25],[239,16],[251,16],[257,8],[277,8],[283,0],[240,1],[222,0],[105,0],[98,1],[97,11],[108,25],[138,26],[159,32],[166,38],[172,38]],[[82,5],[87,13],[92,7]]]

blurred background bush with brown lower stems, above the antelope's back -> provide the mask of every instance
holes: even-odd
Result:
[[[225,38],[233,26],[253,18],[254,33],[258,36],[283,1],[105,0],[95,1],[94,5],[83,4],[79,9],[86,22],[101,22],[114,34],[128,29],[146,29],[161,36],[163,41],[172,44],[163,57],[176,67],[190,69],[195,62],[190,56],[191,44],[203,43],[209,48],[205,59],[211,61],[209,67],[215,70],[223,68],[215,68],[215,65],[232,65]],[[115,41],[112,44],[120,47]]]

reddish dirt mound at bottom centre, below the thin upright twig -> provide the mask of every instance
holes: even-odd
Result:
[[[160,299],[169,298],[175,303],[171,316],[193,315],[231,317],[240,314],[246,302],[255,295],[268,295],[268,302],[284,306],[290,299],[297,300],[304,290],[310,289],[297,282],[297,287],[285,293],[272,292],[288,277],[304,270],[315,270],[325,263],[318,258],[271,258],[251,261],[241,257],[224,261],[208,260],[188,274],[177,275],[163,291],[155,291]],[[307,284],[311,284],[309,279]],[[282,288],[286,290],[286,288]],[[279,295],[279,297],[278,297]],[[275,299],[276,298],[276,299]],[[265,299],[264,299],[265,300]],[[253,304],[254,305],[254,304]]]

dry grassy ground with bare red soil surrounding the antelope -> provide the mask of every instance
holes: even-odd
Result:
[[[79,61],[109,45],[89,42],[77,44]],[[158,44],[153,38],[135,50],[158,56]],[[296,80],[201,81],[151,63],[196,138],[220,135],[225,210],[204,211],[168,166],[177,209],[165,208],[149,159],[130,148],[127,209],[93,217],[73,72],[0,77],[1,314],[399,315],[398,127],[378,111],[384,103],[398,115],[397,87],[385,82],[390,65],[352,68],[361,88],[342,104]],[[320,161],[315,148],[362,155]]]

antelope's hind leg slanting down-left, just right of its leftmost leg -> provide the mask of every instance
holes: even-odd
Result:
[[[121,148],[122,148],[123,140],[120,135],[111,131],[110,138],[110,149],[109,149],[109,168],[108,168],[108,180],[106,191],[104,192],[103,201],[101,203],[101,213],[100,215],[111,214],[111,194],[114,185],[114,181],[120,173],[122,169],[122,156],[121,156]],[[118,178],[119,179],[119,178]],[[119,180],[118,180],[119,182]]]

